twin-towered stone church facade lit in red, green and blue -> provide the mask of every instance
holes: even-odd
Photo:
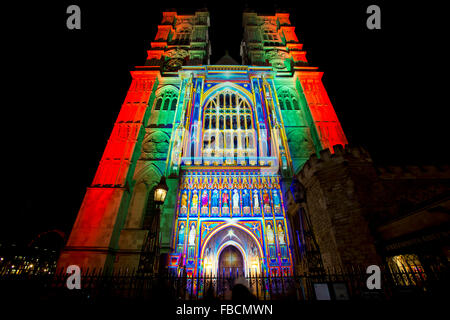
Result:
[[[243,14],[242,64],[210,64],[207,11],[162,16],[58,267],[152,273],[150,253],[175,274],[291,275],[292,178],[312,154],[347,144],[322,72],[288,13]]]

